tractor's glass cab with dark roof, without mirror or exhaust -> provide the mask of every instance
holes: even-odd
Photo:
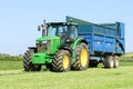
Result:
[[[47,23],[48,37],[60,37],[63,42],[73,42],[78,38],[78,24],[72,22]]]

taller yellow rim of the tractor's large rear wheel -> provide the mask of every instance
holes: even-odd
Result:
[[[84,48],[81,50],[81,65],[82,67],[88,65],[88,51]]]

